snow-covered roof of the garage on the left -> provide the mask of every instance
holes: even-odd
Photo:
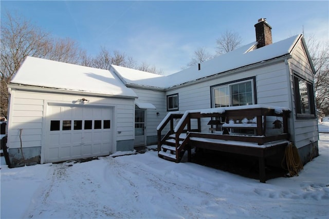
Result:
[[[21,84],[120,97],[137,97],[108,70],[28,56],[11,81]]]

